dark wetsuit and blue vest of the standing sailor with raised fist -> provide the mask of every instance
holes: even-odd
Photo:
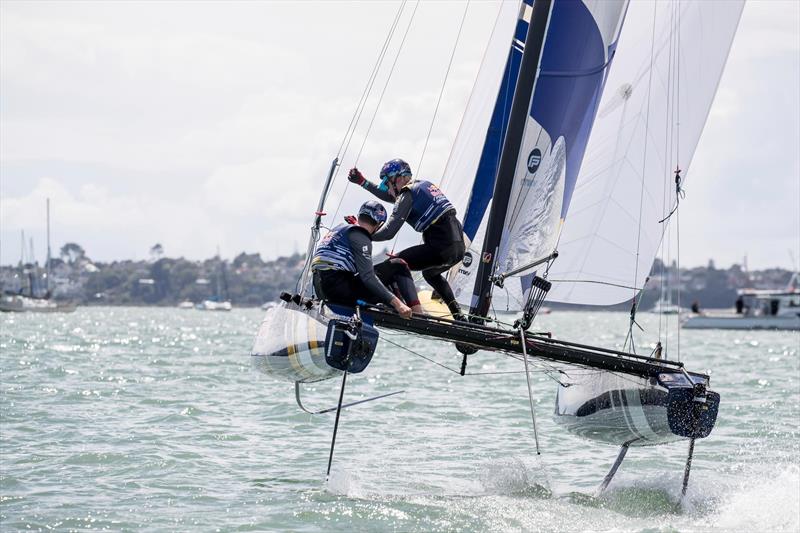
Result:
[[[423,243],[406,248],[397,257],[403,259],[411,270],[421,270],[425,281],[446,304],[455,302],[453,290],[442,274],[464,259],[466,249],[464,230],[452,204],[427,181],[411,182],[396,199],[368,181],[363,187],[385,202],[394,202],[391,217],[372,235],[372,240],[388,241],[397,234],[403,222],[421,232]]]

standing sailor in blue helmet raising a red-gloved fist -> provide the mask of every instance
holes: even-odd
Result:
[[[421,270],[425,281],[439,294],[453,318],[464,320],[453,289],[442,275],[464,259],[464,230],[456,218],[456,209],[433,183],[413,180],[411,167],[402,159],[392,159],[381,168],[380,183],[367,180],[357,168],[347,179],[365,188],[380,200],[393,202],[389,221],[373,236],[373,241],[387,241],[407,222],[422,233],[423,244],[397,254],[411,270]]]

